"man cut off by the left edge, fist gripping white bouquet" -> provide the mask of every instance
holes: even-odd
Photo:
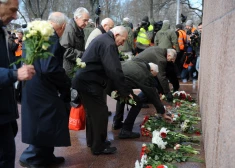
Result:
[[[35,74],[33,65],[24,65],[14,70],[10,66],[8,34],[5,27],[17,19],[18,0],[0,0],[0,167],[15,167],[15,136],[19,118],[15,99],[14,83],[30,80]]]

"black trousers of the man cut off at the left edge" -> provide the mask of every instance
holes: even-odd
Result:
[[[16,121],[14,121],[16,124]],[[15,125],[14,125],[15,127]],[[0,168],[15,167],[15,135],[12,123],[0,125]]]

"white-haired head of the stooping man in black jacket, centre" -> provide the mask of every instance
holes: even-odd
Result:
[[[123,45],[127,39],[128,32],[123,26],[116,26],[110,30],[115,38],[115,42],[117,46]]]

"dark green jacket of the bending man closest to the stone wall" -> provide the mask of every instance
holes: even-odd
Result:
[[[160,48],[157,46],[148,47],[137,56],[135,56],[132,60],[142,60],[147,63],[154,63],[158,65],[159,73],[157,78],[163,88],[164,94],[170,92],[168,79],[166,77],[166,67],[167,67],[167,59],[166,59],[167,51],[164,48]]]

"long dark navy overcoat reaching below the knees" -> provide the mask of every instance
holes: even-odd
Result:
[[[53,57],[35,61],[36,75],[23,84],[22,141],[37,146],[70,146],[69,115],[65,101],[70,80],[62,68],[63,48],[57,35],[51,37]]]

